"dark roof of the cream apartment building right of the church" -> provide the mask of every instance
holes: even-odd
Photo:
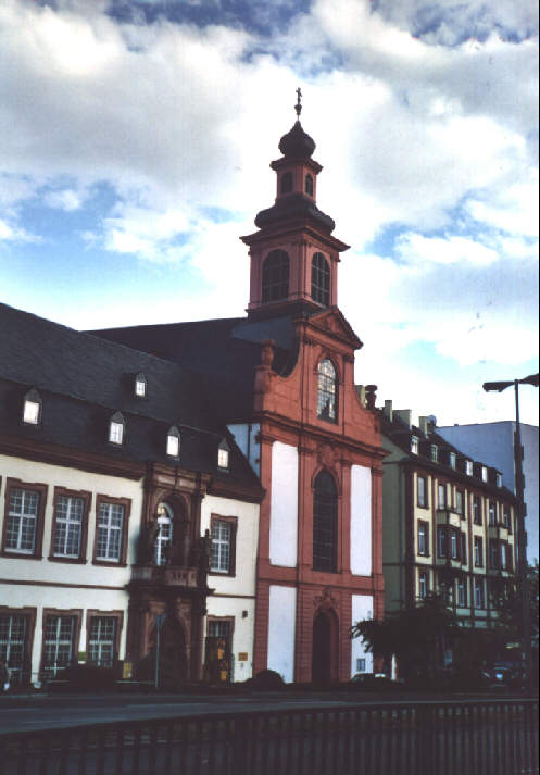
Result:
[[[404,452],[405,459],[411,463],[420,464],[423,467],[429,468],[434,472],[445,474],[450,477],[453,477],[457,480],[462,480],[469,485],[475,485],[485,489],[489,489],[491,492],[497,493],[499,497],[515,500],[514,493],[506,489],[506,487],[497,487],[495,485],[489,482],[478,479],[476,476],[468,476],[460,470],[453,468],[450,463],[445,463],[440,460],[436,462],[426,454],[424,454],[424,445],[437,445],[440,451],[445,451],[448,453],[453,452],[456,455],[456,459],[472,460],[472,462],[474,463],[480,463],[481,465],[486,465],[488,468],[491,467],[487,463],[481,463],[481,461],[473,461],[470,455],[465,454],[462,450],[457,449],[457,447],[454,447],[442,436],[440,436],[437,433],[435,426],[428,426],[428,435],[426,437],[424,436],[420,428],[418,428],[416,425],[409,426],[400,417],[398,417],[395,413],[393,414],[393,417],[390,421],[388,416],[385,415],[382,411],[380,411],[380,430],[382,437],[389,438],[391,441],[393,441],[393,443]],[[419,441],[419,454],[414,454],[413,452],[411,452],[411,440],[413,436],[415,436]]]

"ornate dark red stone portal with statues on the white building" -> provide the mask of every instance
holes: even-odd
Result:
[[[206,584],[209,536],[200,535],[209,478],[192,472],[173,477],[159,465],[147,476],[138,561],[128,584],[127,659],[136,677],[154,675],[158,640],[160,683],[180,685],[202,677],[202,625],[213,591]]]

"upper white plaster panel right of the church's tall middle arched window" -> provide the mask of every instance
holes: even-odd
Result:
[[[351,572],[372,575],[372,471],[351,468]]]

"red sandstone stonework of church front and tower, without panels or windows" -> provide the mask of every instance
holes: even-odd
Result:
[[[285,158],[271,164],[277,173],[276,205],[272,217],[258,216],[261,229],[242,240],[250,247],[250,317],[264,320],[291,312],[298,342],[292,371],[280,376],[272,368],[274,342],[262,348],[262,364],[255,373],[254,421],[261,425],[261,483],[266,490],[261,504],[258,554],[256,613],[253,672],[272,666],[268,654],[269,589],[272,585],[296,589],[293,679],[347,680],[351,676],[352,596],[371,596],[373,615],[382,616],[382,457],[379,418],[366,409],[354,386],[354,351],[362,347],[337,308],[337,268],[339,253],[347,249],[331,236],[334,224],[316,210],[304,212],[294,199],[315,203],[316,175],[322,167],[311,160],[307,138],[300,124],[282,138]],[[284,140],[297,133],[296,147]],[[298,139],[300,137],[300,139]],[[313,141],[311,141],[313,142]],[[314,143],[313,143],[314,147]],[[292,184],[284,193],[282,175],[290,173]],[[304,190],[312,177],[310,195]],[[290,184],[290,182],[289,182]],[[291,202],[287,208],[287,200]],[[264,216],[263,212],[263,216]],[[321,214],[323,217],[317,217]],[[325,222],[324,218],[327,218]],[[330,221],[331,226],[328,226]],[[289,288],[286,298],[264,302],[263,266],[271,251],[289,255]],[[312,260],[323,253],[329,267],[327,304],[316,303],[312,295]],[[331,421],[318,414],[318,370],[329,359],[336,371],[338,401]],[[298,450],[298,547],[296,566],[271,561],[273,457],[275,442]],[[351,572],[351,470],[353,465],[371,471],[371,573]],[[331,573],[314,570],[313,511],[314,483],[327,471],[337,489],[337,555]],[[291,518],[297,515],[291,514]],[[323,630],[323,635],[321,632]],[[324,676],[315,662],[319,638],[326,642],[324,659],[329,662]],[[324,672],[324,671],[323,671]],[[354,672],[354,670],[352,671]]]

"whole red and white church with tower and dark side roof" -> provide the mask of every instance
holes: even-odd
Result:
[[[275,203],[242,237],[248,316],[97,332],[196,370],[265,497],[256,552],[254,671],[328,683],[369,670],[351,625],[381,616],[379,417],[354,387],[362,347],[337,307],[347,249],[316,205],[321,165],[299,121],[273,161]]]

